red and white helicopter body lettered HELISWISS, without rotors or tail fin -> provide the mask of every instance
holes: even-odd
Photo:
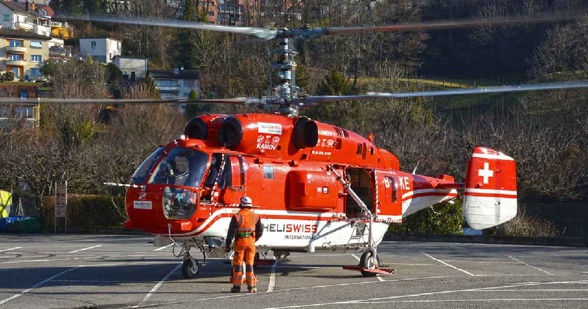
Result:
[[[133,175],[125,227],[176,241],[223,240],[240,198],[247,195],[263,223],[259,247],[355,247],[367,241],[367,214],[337,175],[344,175],[372,212],[376,244],[390,223],[457,197],[461,187],[447,175],[399,171],[397,158],[369,139],[308,118],[199,119],[205,134],[201,126],[200,138],[183,136],[159,148]],[[188,127],[186,133],[193,135]]]

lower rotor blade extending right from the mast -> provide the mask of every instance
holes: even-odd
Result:
[[[588,81],[573,81],[573,82],[551,82],[545,84],[529,84],[529,85],[513,85],[500,87],[480,87],[467,89],[453,89],[453,90],[437,90],[437,91],[417,91],[404,93],[383,93],[383,92],[369,92],[362,95],[323,95],[316,97],[300,98],[296,103],[314,105],[323,102],[339,102],[339,101],[356,101],[365,99],[391,99],[391,98],[413,98],[413,97],[439,97],[443,95],[463,95],[463,94],[492,94],[504,92],[520,92],[520,91],[539,91],[550,89],[569,89],[569,88],[585,88],[588,87]]]

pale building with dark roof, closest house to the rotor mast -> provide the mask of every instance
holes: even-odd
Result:
[[[200,89],[200,72],[193,69],[151,69],[149,74],[161,98],[188,98],[192,90],[198,93]]]

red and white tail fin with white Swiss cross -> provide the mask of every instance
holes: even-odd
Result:
[[[517,211],[515,160],[502,152],[476,147],[467,162],[463,204],[467,223],[476,230],[514,218]]]

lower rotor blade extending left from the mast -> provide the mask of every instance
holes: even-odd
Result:
[[[0,98],[0,104],[262,104],[258,98],[231,98],[231,99],[56,99],[56,98]]]

